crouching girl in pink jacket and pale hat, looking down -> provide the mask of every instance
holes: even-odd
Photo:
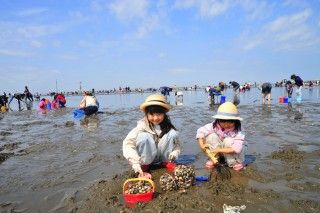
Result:
[[[197,141],[200,148],[209,149],[224,157],[225,162],[234,170],[244,167],[246,142],[241,133],[241,120],[237,107],[231,102],[225,102],[218,108],[213,116],[212,123],[206,124],[197,130]],[[207,168],[213,168],[213,161],[206,162]]]

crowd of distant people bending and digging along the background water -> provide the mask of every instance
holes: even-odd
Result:
[[[291,75],[290,80],[283,80],[282,82],[285,82],[286,87],[286,93],[287,97],[289,98],[289,101],[292,98],[293,89],[296,86],[296,97],[297,102],[301,102],[302,100],[302,87],[304,85],[303,80],[300,78],[300,76],[297,76],[295,74]],[[229,84],[226,84],[224,82],[219,82],[217,86],[208,86],[206,88],[206,92],[208,95],[208,100],[210,104],[220,104],[222,102],[222,97],[224,94],[224,91],[226,88],[232,88],[233,90],[233,99],[232,103],[236,106],[240,103],[240,93],[245,92],[247,90],[250,90],[251,85],[249,83],[245,83],[243,85],[240,85],[236,81],[230,81]],[[195,89],[198,88],[198,86],[195,85]],[[271,90],[272,90],[272,84],[270,82],[264,82],[258,88],[261,90],[262,94],[262,104],[265,104],[267,102],[268,105],[271,104]],[[122,90],[122,88],[120,88]],[[130,87],[123,88],[125,91],[131,91]],[[183,93],[181,90],[178,90],[177,88],[174,88],[175,90],[175,96],[176,100],[180,101],[183,100]],[[156,90],[157,91],[157,90]],[[169,96],[170,92],[173,91],[172,87],[163,86],[159,89],[160,93],[163,96]],[[155,92],[152,90],[152,92]],[[79,109],[83,110],[86,115],[94,114],[98,111],[99,102],[97,101],[96,97],[93,95],[94,91],[92,92],[84,92],[84,98],[81,101],[79,105]],[[42,111],[56,109],[65,107],[66,104],[66,98],[63,93],[52,93],[50,94],[53,96],[53,100],[50,101],[47,98],[42,98],[40,100],[39,98],[39,109]],[[218,97],[221,96],[221,99],[219,101]],[[38,97],[38,96],[37,96]],[[38,98],[37,98],[38,99]],[[9,96],[6,95],[6,93],[3,93],[3,95],[0,96],[0,110],[1,112],[6,112],[9,109],[10,103],[16,100],[18,103],[19,110],[22,109],[21,102],[26,103],[27,109],[31,109],[32,103],[34,101],[32,93],[29,91],[29,88],[25,86],[25,90],[23,93],[14,93],[13,95],[9,93]]]

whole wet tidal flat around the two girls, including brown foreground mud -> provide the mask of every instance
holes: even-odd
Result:
[[[159,187],[165,169],[152,170],[155,197],[135,208],[123,202],[122,184],[134,174],[121,146],[142,116],[136,106],[81,122],[72,108],[12,112],[0,120],[0,212],[222,212],[223,204],[245,205],[244,212],[319,212],[318,102],[240,105],[249,144],[245,170],[172,192]],[[183,154],[196,156],[197,174],[206,157],[195,133],[216,109],[195,100],[170,112]]]

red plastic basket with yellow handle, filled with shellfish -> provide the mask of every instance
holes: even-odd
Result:
[[[143,193],[143,194],[128,194],[128,193],[126,193],[126,190],[128,188],[128,184],[130,182],[137,182],[137,181],[147,181],[147,182],[149,182],[151,184],[151,186],[152,186],[152,190],[150,192]],[[148,178],[131,178],[131,179],[128,179],[123,184],[124,201],[126,203],[148,202],[148,201],[152,200],[153,194],[154,194],[154,190],[155,190],[154,182],[152,180],[148,179]]]

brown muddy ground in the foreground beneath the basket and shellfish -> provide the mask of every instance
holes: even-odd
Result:
[[[320,155],[320,152],[312,153]],[[156,184],[154,198],[150,202],[128,204],[124,202],[122,186],[126,179],[134,177],[133,173],[125,172],[115,175],[112,180],[100,180],[89,187],[88,191],[78,192],[67,202],[68,212],[222,212],[223,204],[232,206],[245,205],[244,212],[319,212],[319,198],[293,199],[286,193],[273,189],[255,187],[250,182],[267,185],[278,181],[286,181],[288,190],[292,193],[319,194],[319,182],[300,182],[304,175],[304,159],[308,154],[294,147],[286,147],[273,152],[270,161],[279,160],[279,165],[285,167],[282,171],[261,171],[253,163],[245,170],[231,171],[230,180],[215,178],[212,173],[208,182],[196,182],[187,190],[162,191],[159,178],[167,171],[164,168],[151,170]],[[319,172],[315,166],[315,173]],[[276,186],[275,186],[276,187]],[[77,202],[78,197],[81,202]],[[62,210],[62,209],[61,209]]]

